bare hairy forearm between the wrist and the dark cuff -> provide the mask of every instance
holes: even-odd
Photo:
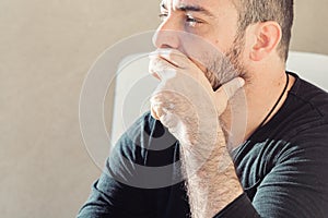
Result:
[[[243,193],[224,141],[206,156],[200,145],[181,146],[192,218],[213,217]]]

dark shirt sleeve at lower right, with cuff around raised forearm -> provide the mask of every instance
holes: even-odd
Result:
[[[273,168],[215,218],[325,218],[328,215],[328,128],[297,133],[277,154]]]

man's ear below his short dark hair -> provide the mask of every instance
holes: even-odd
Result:
[[[255,29],[255,44],[253,45],[250,59],[260,61],[270,53],[276,52],[281,40],[282,31],[277,22],[258,23]]]

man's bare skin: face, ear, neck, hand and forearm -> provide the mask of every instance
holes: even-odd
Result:
[[[246,131],[234,141],[238,145],[285,85],[285,63],[277,52],[281,28],[276,22],[253,24],[237,43],[238,14],[231,0],[165,0],[162,5],[163,22],[154,36],[159,49],[150,57],[150,72],[161,80],[151,99],[152,116],[181,144],[192,217],[212,217],[243,193],[223,131],[223,123],[231,124],[227,106],[245,92]],[[232,55],[234,49],[241,55]],[[215,75],[213,50],[233,61],[234,73]],[[288,89],[293,82],[291,76]],[[272,116],[285,98],[286,93]]]

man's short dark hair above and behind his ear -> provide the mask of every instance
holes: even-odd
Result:
[[[234,0],[238,10],[238,34],[244,34],[247,26],[258,22],[274,21],[282,29],[278,46],[279,56],[286,61],[292,25],[294,20],[294,0]]]

